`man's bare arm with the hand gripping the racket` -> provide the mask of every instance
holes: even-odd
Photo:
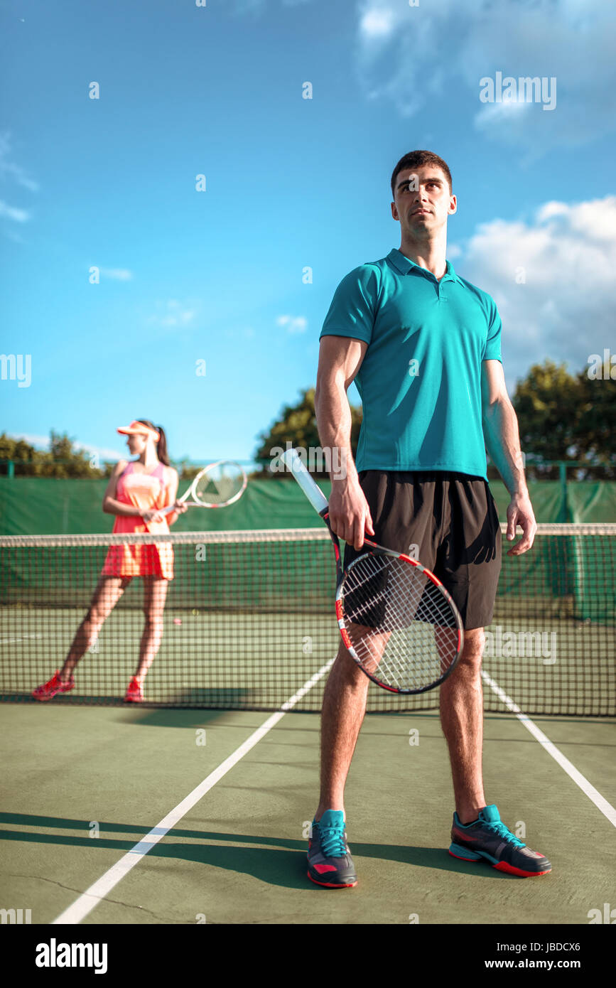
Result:
[[[367,344],[346,336],[324,336],[319,352],[315,411],[323,449],[334,451],[343,470],[332,470],[330,524],[333,531],[360,549],[364,533],[374,535],[365,496],[350,452],[350,406],[346,391],[367,350]]]

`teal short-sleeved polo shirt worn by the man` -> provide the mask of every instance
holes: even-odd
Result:
[[[438,282],[392,250],[336,289],[321,330],[368,344],[355,377],[358,470],[455,470],[487,478],[482,361],[500,361],[500,315],[447,261]]]

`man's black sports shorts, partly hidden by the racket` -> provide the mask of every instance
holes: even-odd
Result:
[[[451,594],[465,630],[491,624],[501,535],[488,482],[441,470],[362,470],[359,483],[372,516],[373,541],[431,570]],[[359,554],[346,545],[345,566]]]

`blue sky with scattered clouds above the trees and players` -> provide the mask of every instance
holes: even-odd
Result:
[[[1,349],[32,359],[0,431],[113,458],[145,416],[175,457],[250,458],[341,279],[400,246],[414,148],[453,174],[447,256],[497,300],[510,390],[616,349],[613,5],[0,0],[0,24]],[[556,79],[555,109],[483,103],[499,72]]]

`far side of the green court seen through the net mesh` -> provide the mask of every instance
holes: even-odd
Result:
[[[276,634],[271,615],[238,615],[231,636],[223,613],[167,616],[161,648],[146,680],[146,704],[276,708],[329,663],[338,645],[331,615],[300,612],[284,620],[292,630]],[[4,610],[0,648],[20,655],[19,663],[7,664],[3,672],[5,699],[29,700],[29,690],[61,665],[77,624],[73,609]],[[75,690],[61,698],[62,704],[120,702],[137,662],[142,625],[138,611],[117,608],[80,663]],[[238,662],[240,648],[243,663],[250,662],[249,677]],[[544,618],[538,631],[536,621],[497,611],[486,651],[485,672],[528,712],[614,713],[615,627],[562,617]],[[322,677],[297,701],[297,708],[319,710],[324,685]],[[375,692],[369,708],[429,709],[436,702],[437,694],[395,698]],[[485,703],[490,710],[505,709],[496,693]]]

